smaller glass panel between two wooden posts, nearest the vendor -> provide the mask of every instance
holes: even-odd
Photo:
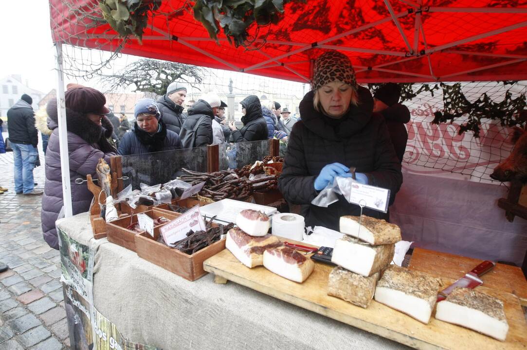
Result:
[[[269,140],[219,145],[220,170],[240,169],[269,155]]]

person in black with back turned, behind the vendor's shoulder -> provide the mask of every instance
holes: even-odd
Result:
[[[410,121],[410,111],[408,107],[399,103],[399,98],[401,86],[388,83],[379,87],[373,95],[373,112],[384,117],[395,153],[402,163],[408,141],[408,132],[404,124]]]

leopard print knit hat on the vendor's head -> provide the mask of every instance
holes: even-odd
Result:
[[[349,58],[335,50],[326,51],[318,56],[315,61],[315,71],[311,88],[316,90],[336,80],[358,89],[357,81],[355,80],[355,71]]]

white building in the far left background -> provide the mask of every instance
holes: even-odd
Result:
[[[45,93],[28,87],[28,82],[22,83],[21,75],[8,75],[0,80],[0,117],[7,120],[7,110],[11,108],[23,94],[33,98],[33,109],[38,109],[38,102]]]

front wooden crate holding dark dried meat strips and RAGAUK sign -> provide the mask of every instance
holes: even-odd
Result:
[[[225,249],[225,239],[188,255],[155,241],[148,233],[141,233],[135,236],[135,248],[137,255],[152,264],[189,281],[196,281],[207,274],[203,269],[203,261]]]

